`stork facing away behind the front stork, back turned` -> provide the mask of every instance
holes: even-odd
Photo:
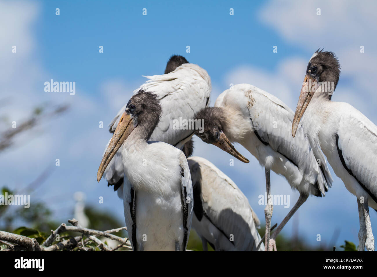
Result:
[[[150,136],[150,141],[169,143],[184,151],[185,155],[190,156],[192,154],[193,130],[174,129],[173,120],[192,119],[196,112],[208,105],[211,79],[207,71],[196,64],[190,64],[182,56],[173,55],[167,62],[164,75],[146,77],[149,80],[133,93],[137,93],[140,89],[152,92],[162,106],[160,122]],[[126,105],[119,110],[109,124],[110,133],[114,133],[125,109]],[[106,148],[108,145],[109,143]],[[108,185],[114,185],[114,190],[120,188],[118,196],[123,198],[124,170],[121,150],[122,146],[107,166],[104,177]]]

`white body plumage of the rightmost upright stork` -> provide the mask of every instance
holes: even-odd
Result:
[[[334,173],[342,179],[348,191],[358,198],[365,197],[369,207],[377,209],[376,125],[348,103],[322,101],[315,96],[302,116],[303,129],[312,138],[312,144],[320,145]],[[319,112],[323,110],[326,112]],[[354,176],[343,166],[338,147],[346,167]]]

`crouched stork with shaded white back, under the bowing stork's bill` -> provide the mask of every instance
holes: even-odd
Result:
[[[216,251],[255,251],[261,241],[260,222],[246,196],[215,165],[200,157],[189,162],[194,193],[192,228],[203,250],[207,242]],[[264,251],[264,245],[259,248]]]

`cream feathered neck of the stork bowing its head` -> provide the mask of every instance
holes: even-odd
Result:
[[[228,106],[221,107],[226,121],[222,130],[231,142],[241,143],[250,131],[250,120],[239,111]]]

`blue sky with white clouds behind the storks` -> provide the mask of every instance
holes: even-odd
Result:
[[[60,15],[55,15],[55,8],[60,8]],[[142,15],[143,8],[147,15]],[[342,65],[333,100],[351,103],[376,123],[377,97],[371,82],[377,62],[377,41],[371,35],[377,31],[376,8],[368,1],[0,1],[0,99],[9,99],[0,110],[0,131],[12,121],[25,120],[41,103],[71,105],[65,115],[25,133],[17,138],[19,147],[1,154],[0,185],[21,190],[52,166],[51,176],[31,197],[45,200],[58,220],[71,216],[78,190],[86,193],[88,204],[123,220],[121,200],[105,181],[96,181],[110,138],[98,122],[106,126],[144,83],[142,75],[163,73],[172,54],[184,55],[208,71],[212,104],[231,83],[250,83],[294,110],[307,62],[316,49],[325,47]],[[103,53],[98,52],[100,45]],[[17,53],[11,52],[12,46],[17,46]],[[365,53],[360,53],[360,46]],[[44,82],[50,79],[75,81],[76,94],[44,92]],[[238,150],[250,164],[235,161],[230,167],[227,153],[195,139],[194,155],[207,158],[233,179],[264,222],[264,206],[257,203],[265,192],[264,170],[243,147],[238,145]],[[57,158],[60,167],[55,167]],[[284,178],[271,174],[272,193],[290,194],[293,206],[298,193]],[[340,228],[337,246],[345,239],[357,243],[356,197],[335,174],[333,178],[326,197],[310,197],[284,228],[285,234],[297,228],[311,245],[327,245]],[[104,204],[98,204],[100,196]],[[287,213],[275,207],[273,223]],[[377,230],[373,210],[371,220]],[[316,241],[317,234],[322,242]]]

